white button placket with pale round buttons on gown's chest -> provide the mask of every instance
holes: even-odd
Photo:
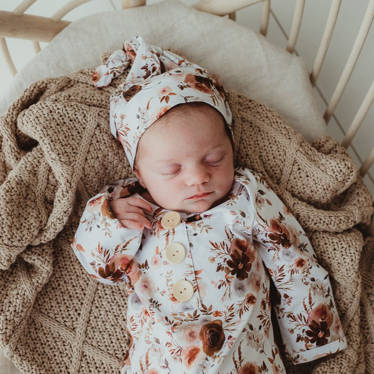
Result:
[[[169,212],[174,213],[174,212]],[[178,213],[177,213],[178,214]],[[167,216],[168,213],[165,215]],[[164,217],[165,217],[164,216]],[[180,216],[179,216],[180,217]],[[170,219],[170,217],[168,217]],[[174,217],[172,216],[172,219]],[[178,218],[176,216],[176,221]],[[163,225],[163,223],[161,222]],[[170,229],[174,230],[173,242],[162,252],[165,274],[171,296],[174,296],[180,303],[172,302],[173,312],[180,312],[201,307],[201,301],[197,289],[195,268],[190,254],[190,243],[188,241],[186,224],[179,221]],[[165,226],[164,226],[165,227]]]

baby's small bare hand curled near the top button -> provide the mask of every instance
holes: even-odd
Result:
[[[151,228],[144,210],[152,212],[151,204],[141,198],[117,198],[109,202],[110,208],[123,227],[130,229]]]

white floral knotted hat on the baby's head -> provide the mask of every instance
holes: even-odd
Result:
[[[136,36],[112,53],[93,73],[96,87],[106,87],[132,64],[126,81],[110,96],[110,131],[122,144],[133,169],[142,134],[178,104],[204,102],[216,108],[231,131],[231,110],[220,83],[210,73],[177,54]]]

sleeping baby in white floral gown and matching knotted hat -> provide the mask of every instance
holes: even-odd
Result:
[[[135,37],[94,84],[129,64],[110,128],[136,178],[88,200],[72,243],[91,277],[127,287],[121,373],[286,373],[281,353],[300,364],[343,350],[305,232],[261,176],[234,168],[217,78]]]

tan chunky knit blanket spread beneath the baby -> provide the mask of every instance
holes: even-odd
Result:
[[[131,173],[108,124],[124,76],[97,89],[91,74],[37,82],[0,118],[0,347],[27,374],[118,374],[127,350],[125,288],[90,279],[70,248],[88,198]],[[370,193],[336,141],[310,146],[264,105],[228,100],[236,166],[262,173],[307,231],[348,339],[287,372],[374,373],[373,238],[359,267]]]

